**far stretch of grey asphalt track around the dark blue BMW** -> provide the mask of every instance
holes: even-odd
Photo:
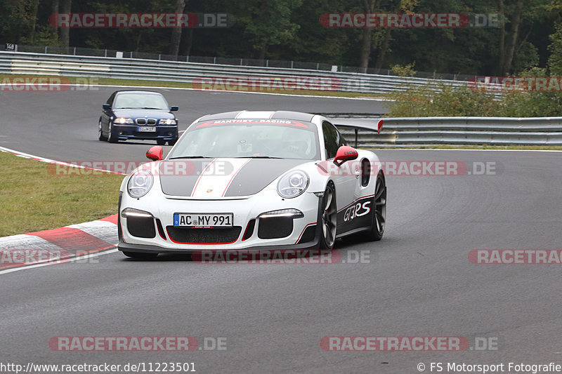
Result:
[[[155,141],[122,142],[114,147],[97,138],[101,105],[115,87],[92,87],[89,91],[0,93],[3,123],[0,146],[41,155],[58,161],[146,161],[145,152]],[[232,110],[268,109],[321,113],[384,113],[386,106],[373,100],[307,98],[289,95],[261,95],[162,89],[170,105],[180,107],[180,131],[204,114]],[[165,147],[170,149],[170,147]]]

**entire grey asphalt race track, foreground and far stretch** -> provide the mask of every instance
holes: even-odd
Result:
[[[4,94],[0,145],[63,160],[143,159],[150,142],[96,140],[98,107],[110,91]],[[367,100],[164,93],[180,105],[182,123],[238,108],[382,108]],[[442,373],[447,363],[504,363],[509,373],[509,362],[562,364],[560,265],[469,261],[476,249],[562,249],[561,153],[377,153],[384,161],[461,161],[471,174],[389,175],[385,236],[336,243],[347,263],[210,265],[110,253],[0,274],[1,361],[173,361],[195,363],[197,373],[419,373],[419,363],[430,373],[432,362],[443,363]],[[485,163],[495,169],[480,175]],[[357,253],[368,258],[349,263]],[[226,350],[54,352],[48,345],[58,336],[155,335],[196,337],[200,347],[204,337],[226,338]],[[325,336],[455,336],[471,347],[326,352]],[[493,349],[477,349],[483,340]]]

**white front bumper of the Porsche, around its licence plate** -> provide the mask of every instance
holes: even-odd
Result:
[[[152,193],[156,198],[150,198]],[[320,201],[320,197],[311,192],[295,199],[282,199],[275,189],[263,190],[249,198],[220,200],[169,199],[162,196],[162,192],[153,191],[141,199],[132,199],[125,192],[119,205],[118,249],[137,253],[189,254],[195,251],[318,248]],[[152,217],[145,217],[143,222],[135,221],[122,215],[126,208],[150,213]],[[261,214],[291,208],[301,211],[303,217],[293,218],[289,230],[280,227],[278,233],[282,237],[270,238],[275,236],[271,230],[272,218],[261,217]],[[234,213],[233,229],[178,229],[174,227],[174,213]],[[286,220],[277,222],[287,224]],[[274,222],[274,228],[276,224]]]

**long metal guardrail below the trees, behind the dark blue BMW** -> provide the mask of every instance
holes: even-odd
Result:
[[[311,69],[282,67],[254,67],[204,64],[196,62],[141,60],[138,58],[105,58],[95,56],[50,55],[43,53],[1,52],[0,73],[39,74],[61,76],[96,76],[118,79],[152,81],[181,81],[192,83],[194,79],[223,77],[233,79],[318,79],[327,91],[347,91],[385,94],[403,91],[407,86],[435,85],[436,80],[362,74],[353,72],[329,72]],[[439,80],[452,86],[466,86],[466,81]],[[243,84],[243,81],[242,81]],[[255,90],[259,91],[259,90]],[[267,91],[265,88],[263,91]]]

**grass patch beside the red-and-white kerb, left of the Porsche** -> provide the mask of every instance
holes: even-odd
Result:
[[[122,175],[53,175],[48,163],[0,152],[0,237],[117,213]]]

